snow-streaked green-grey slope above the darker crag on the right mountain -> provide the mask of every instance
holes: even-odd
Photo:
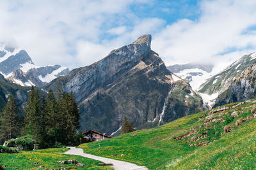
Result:
[[[217,103],[223,101],[223,96],[227,93],[226,90],[229,89],[230,85],[236,80],[236,78],[244,74],[244,71],[250,67],[255,60],[256,53],[244,55],[241,59],[232,63],[220,73],[209,78],[209,80],[200,86],[199,92],[212,99],[212,106],[214,104],[215,106],[220,106],[220,104]],[[221,99],[216,99],[218,96],[222,96]],[[227,101],[228,100],[230,99],[227,99]]]

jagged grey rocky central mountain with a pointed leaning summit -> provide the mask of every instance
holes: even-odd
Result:
[[[113,50],[99,62],[74,69],[65,77],[56,78],[45,85],[44,89],[56,90],[61,82],[63,90],[75,94],[80,106],[82,131],[95,129],[110,135],[118,130],[124,115],[138,129],[172,121],[179,116],[170,118],[172,116],[165,114],[173,113],[166,110],[166,97],[172,98],[173,93],[169,92],[175,84],[179,86],[182,83],[189,92],[195,92],[184,80],[173,77],[163,60],[150,49],[150,43],[150,35],[141,36],[130,45]],[[183,93],[173,97],[186,103],[186,95]],[[191,97],[191,101],[193,100],[197,100],[195,96]],[[202,104],[200,97],[198,100]],[[193,113],[190,105],[186,106],[189,109],[179,110],[178,106],[169,108],[175,110],[177,115]],[[196,108],[203,110],[202,105]]]

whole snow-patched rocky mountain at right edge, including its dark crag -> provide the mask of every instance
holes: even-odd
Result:
[[[198,92],[211,98],[214,106],[255,98],[255,62],[256,53],[244,55],[205,81]]]

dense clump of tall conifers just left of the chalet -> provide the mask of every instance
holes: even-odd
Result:
[[[50,89],[47,97],[39,97],[34,87],[29,92],[24,125],[41,148],[74,145],[79,129],[79,110],[72,93],[59,88],[54,96]]]

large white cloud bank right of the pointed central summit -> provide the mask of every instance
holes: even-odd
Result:
[[[243,34],[256,24],[256,1],[202,1],[198,20],[179,20],[153,36],[152,49],[166,65],[230,62],[256,47],[256,34]],[[228,49],[237,50],[228,53]],[[254,49],[256,50],[256,49]],[[227,54],[220,55],[220,53]]]

